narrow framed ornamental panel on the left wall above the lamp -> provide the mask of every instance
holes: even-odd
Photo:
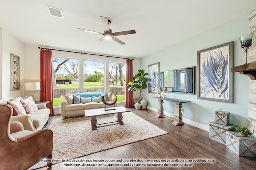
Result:
[[[20,57],[11,53],[11,91],[20,90]]]

